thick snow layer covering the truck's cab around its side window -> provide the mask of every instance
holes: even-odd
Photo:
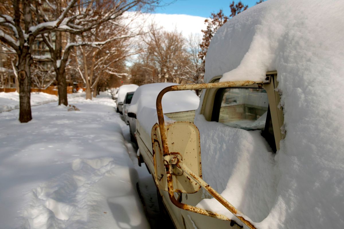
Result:
[[[269,0],[230,19],[209,46],[205,81],[278,72],[286,137],[276,156],[256,132],[196,122],[205,180],[258,228],[344,227],[343,9],[344,1]],[[209,130],[218,138],[204,137]],[[224,213],[209,202],[200,206]]]

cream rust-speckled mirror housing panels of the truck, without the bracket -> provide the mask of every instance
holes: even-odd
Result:
[[[175,122],[165,126],[169,154],[177,156],[196,175],[202,177],[200,132],[190,122]],[[164,155],[159,125],[155,124],[151,132],[154,180],[157,186],[168,191],[166,179],[166,155]],[[182,193],[195,193],[201,186],[176,165],[172,165],[173,191]]]

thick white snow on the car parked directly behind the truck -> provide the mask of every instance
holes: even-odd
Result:
[[[151,83],[141,85],[132,96],[128,112],[136,114],[137,119],[147,133],[158,121],[157,97],[160,91],[176,83]],[[164,114],[191,111],[198,107],[200,99],[194,91],[170,91],[162,98],[162,110]],[[167,117],[165,117],[168,120]]]

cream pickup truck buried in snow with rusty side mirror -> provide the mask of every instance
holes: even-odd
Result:
[[[342,9],[260,3],[216,32],[207,83],[160,92],[139,148],[176,228],[344,228]],[[193,89],[194,124],[166,122],[161,99]]]

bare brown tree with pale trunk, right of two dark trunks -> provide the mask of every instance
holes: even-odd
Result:
[[[137,33],[131,32],[127,24],[118,25],[110,22],[104,23],[95,28],[94,31],[90,31],[90,34],[97,34],[97,36],[91,35],[80,38],[84,44],[89,44],[79,46],[76,52],[79,52],[80,55],[75,55],[78,63],[77,69],[86,84],[86,99],[92,99],[91,92],[97,88],[100,79],[105,82],[109,75],[126,76],[126,72],[119,70],[117,64],[119,62],[124,64],[123,60],[137,54],[130,39],[137,36]],[[99,42],[108,36],[110,38],[105,42]]]

